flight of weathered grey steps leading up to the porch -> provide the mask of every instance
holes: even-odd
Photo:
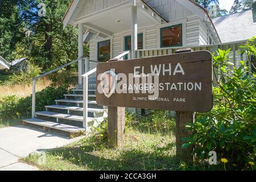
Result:
[[[46,111],[37,111],[36,118],[24,119],[24,125],[33,125],[51,129],[55,132],[68,133],[69,137],[89,132],[91,127],[97,127],[106,117],[108,109],[99,106],[96,102],[96,85],[90,84],[88,89],[88,128],[85,131],[85,121],[83,117],[83,89],[82,85],[77,85],[72,93],[64,94],[63,99],[55,100],[55,105],[48,105]],[[83,131],[83,132],[82,132]]]

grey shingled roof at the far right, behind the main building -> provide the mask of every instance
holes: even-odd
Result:
[[[212,19],[222,43],[247,40],[256,36],[253,11],[225,15]]]

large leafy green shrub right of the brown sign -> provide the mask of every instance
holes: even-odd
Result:
[[[193,154],[199,159],[216,151],[218,159],[228,159],[229,168],[251,169],[249,162],[255,163],[256,153],[256,75],[243,61],[238,68],[233,67],[229,51],[219,49],[217,56],[213,55],[218,85],[214,88],[214,107],[209,113],[198,114],[196,122],[188,125],[194,134],[184,138],[187,143],[183,148],[193,145]]]

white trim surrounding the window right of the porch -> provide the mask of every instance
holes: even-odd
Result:
[[[180,47],[186,47],[187,46],[187,30],[186,30],[186,24],[187,24],[187,18],[181,19],[181,20],[176,20],[174,22],[170,23],[164,23],[161,24],[160,26],[156,26],[156,34],[158,35],[158,40],[157,40],[157,46],[158,48],[161,48],[161,43],[160,43],[160,29],[164,27],[170,27],[170,26],[175,26],[177,24],[182,24],[182,46]]]

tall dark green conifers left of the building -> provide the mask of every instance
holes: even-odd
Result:
[[[39,16],[39,3],[46,16]],[[71,0],[0,1],[0,55],[7,61],[28,57],[42,71],[77,58],[77,30],[62,19]],[[88,53],[88,49],[85,50]],[[68,69],[71,67],[68,67]]]

